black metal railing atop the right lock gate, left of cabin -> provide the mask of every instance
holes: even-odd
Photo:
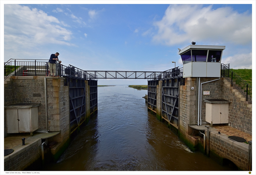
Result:
[[[183,78],[183,68],[173,68],[165,70],[160,74],[152,74],[147,80],[168,80],[168,79],[178,79]]]

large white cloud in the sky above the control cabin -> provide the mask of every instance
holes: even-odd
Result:
[[[252,16],[239,14],[230,7],[214,10],[212,6],[172,4],[154,25],[158,31],[152,40],[165,45],[193,40],[234,44],[252,42]]]

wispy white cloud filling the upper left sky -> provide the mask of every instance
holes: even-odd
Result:
[[[57,18],[36,8],[17,4],[4,5],[4,55],[22,48],[45,44],[72,45],[72,32],[60,26]],[[64,24],[63,24],[64,25]]]

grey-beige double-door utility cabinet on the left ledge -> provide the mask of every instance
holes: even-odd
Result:
[[[26,133],[38,129],[40,103],[13,104],[6,109],[7,133]]]

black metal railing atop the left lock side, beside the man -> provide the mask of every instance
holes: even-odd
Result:
[[[58,61],[57,61],[58,62]],[[76,79],[97,80],[97,75],[87,73],[72,65],[56,63],[57,76]],[[4,63],[4,80],[9,76],[48,76],[50,69],[46,59],[9,59]]]

